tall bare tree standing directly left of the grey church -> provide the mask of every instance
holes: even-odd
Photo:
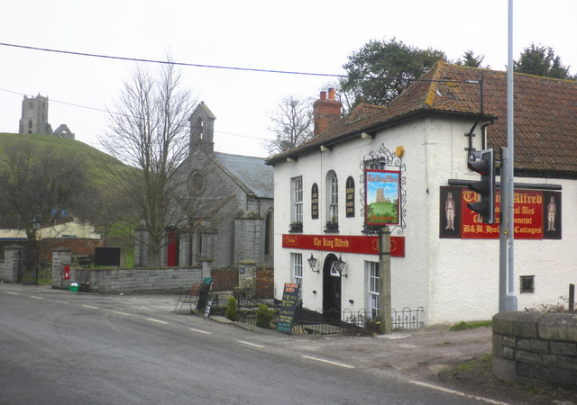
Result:
[[[186,221],[175,201],[181,185],[178,168],[188,156],[188,118],[195,100],[181,89],[181,76],[167,63],[157,76],[137,67],[124,83],[110,125],[99,140],[105,150],[124,162],[114,175],[117,186],[136,211],[124,221],[127,229],[143,225],[149,238],[141,242],[158,264],[160,248],[171,227]]]

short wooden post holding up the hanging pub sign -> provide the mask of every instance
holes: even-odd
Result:
[[[390,229],[379,229],[379,287],[380,287],[380,325],[379,332],[390,333]]]

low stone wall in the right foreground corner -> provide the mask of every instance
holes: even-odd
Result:
[[[577,314],[499,312],[493,373],[508,383],[577,388]]]

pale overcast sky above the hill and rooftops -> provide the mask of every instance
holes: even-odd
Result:
[[[0,42],[123,58],[342,75],[369,40],[397,38],[462,58],[472,49],[505,70],[508,0],[20,0],[2,6]],[[574,0],[516,0],[513,58],[531,43],[550,46],[577,73]],[[135,62],[0,46],[0,132],[17,132],[23,94],[48,96],[52,129],[100,148],[106,109]],[[152,71],[157,65],[145,67]],[[183,85],[215,114],[215,150],[266,157],[270,115],[287,96],[318,98],[329,76],[181,67]]]

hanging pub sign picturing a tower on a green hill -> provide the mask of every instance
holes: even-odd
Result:
[[[398,225],[398,198],[400,172],[392,170],[365,170],[365,225]]]

